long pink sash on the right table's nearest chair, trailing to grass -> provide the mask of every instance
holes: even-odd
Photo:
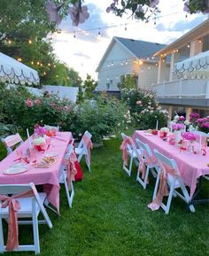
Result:
[[[179,172],[176,169],[163,165],[161,161],[158,160],[159,167],[161,169],[159,175],[159,190],[156,198],[153,199],[151,204],[148,205],[151,211],[159,210],[159,207],[163,201],[163,197],[168,195],[167,189],[167,175],[179,176]]]

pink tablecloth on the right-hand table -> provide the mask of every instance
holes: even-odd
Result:
[[[179,167],[182,179],[190,187],[190,198],[192,198],[197,184],[197,178],[201,175],[209,175],[209,149],[206,156],[190,153],[189,151],[180,152],[179,148],[169,145],[159,136],[146,135],[143,131],[136,130],[133,139],[139,138],[143,143],[149,144],[151,150],[157,149],[169,159],[174,159]]]

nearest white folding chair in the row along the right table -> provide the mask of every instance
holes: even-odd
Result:
[[[185,201],[187,204],[190,203],[190,196],[188,193],[188,190],[185,187],[185,184],[182,180],[182,176],[179,172],[179,169],[177,167],[177,164],[174,159],[168,159],[165,155],[162,153],[159,153],[159,151],[154,150],[154,154],[156,159],[159,161],[159,172],[155,183],[155,189],[153,192],[153,200],[157,197],[157,190],[159,189],[159,182],[160,182],[160,174],[163,171],[162,167],[169,167],[170,169],[174,170],[177,175],[171,175],[169,173],[166,173],[167,175],[167,185],[169,188],[168,198],[166,201],[166,204],[161,202],[160,206],[163,208],[166,214],[169,213],[171,201],[173,197],[179,196],[182,198],[183,201]],[[177,191],[176,189],[181,189],[182,193]],[[195,212],[194,206],[190,205],[190,211]]]

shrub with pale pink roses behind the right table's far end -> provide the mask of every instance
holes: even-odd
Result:
[[[122,89],[121,97],[128,105],[130,115],[138,128],[156,128],[157,120],[159,128],[166,126],[168,112],[158,106],[156,96],[150,90]]]

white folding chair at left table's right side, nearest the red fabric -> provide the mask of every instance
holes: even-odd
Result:
[[[68,151],[67,151],[66,156],[65,156],[64,163],[62,164],[62,166],[59,170],[59,174],[58,174],[58,182],[60,184],[65,185],[66,198],[67,198],[68,206],[70,208],[72,208],[72,204],[73,204],[73,200],[74,200],[74,182],[70,181],[71,182],[71,191],[69,191],[68,185],[67,185],[67,172],[66,172],[65,162],[67,162],[70,159],[72,151],[74,151],[74,148],[71,145],[71,147],[68,148]]]

